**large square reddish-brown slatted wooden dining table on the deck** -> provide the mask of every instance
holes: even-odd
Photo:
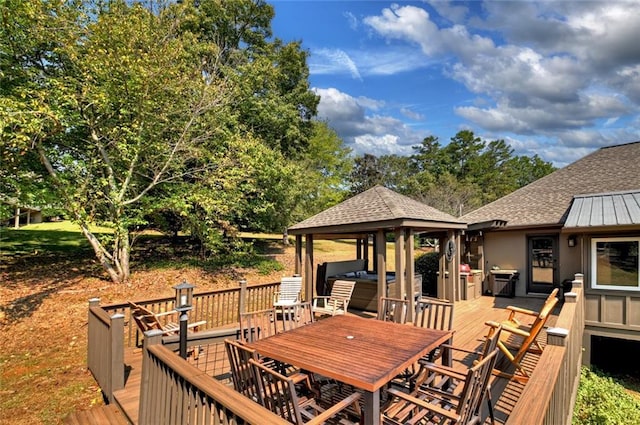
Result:
[[[380,423],[380,389],[451,332],[338,315],[249,343],[259,354],[363,390],[364,423]]]

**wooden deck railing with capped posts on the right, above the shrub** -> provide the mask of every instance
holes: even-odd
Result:
[[[507,424],[570,424],[582,364],[583,276],[577,274],[547,346],[514,406]]]

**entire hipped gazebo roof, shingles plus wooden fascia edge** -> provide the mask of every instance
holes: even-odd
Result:
[[[375,186],[289,228],[291,234],[373,231],[380,228],[464,229],[464,221],[429,205]]]

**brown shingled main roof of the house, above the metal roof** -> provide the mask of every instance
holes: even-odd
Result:
[[[640,190],[639,164],[640,141],[603,147],[460,219],[504,220],[506,228],[562,226],[576,195]]]

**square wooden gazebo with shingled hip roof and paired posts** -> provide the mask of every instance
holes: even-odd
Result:
[[[454,300],[459,288],[460,234],[465,222],[450,214],[413,200],[382,186],[375,186],[319,214],[291,226],[296,236],[295,271],[303,275],[305,298],[313,297],[313,242],[321,239],[355,239],[356,258],[367,258],[370,237],[373,239],[374,268],[378,276],[378,298],[406,296],[416,299],[413,282],[414,236],[427,233],[440,241],[437,295]],[[395,294],[387,294],[386,234],[395,236]],[[304,236],[304,255],[302,238]],[[448,279],[446,276],[448,275]],[[409,313],[415,306],[409,309]]]

